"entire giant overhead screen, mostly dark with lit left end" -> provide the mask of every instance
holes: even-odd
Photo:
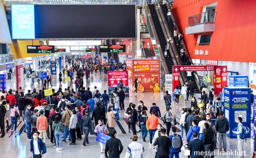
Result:
[[[12,5],[13,39],[135,38],[135,5]]]

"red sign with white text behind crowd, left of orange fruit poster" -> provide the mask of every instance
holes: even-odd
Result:
[[[108,71],[107,72],[108,87],[117,87],[120,81],[124,86],[129,86],[127,71]]]

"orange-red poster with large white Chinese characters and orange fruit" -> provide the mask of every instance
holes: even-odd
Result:
[[[134,74],[133,81],[136,78],[138,79],[138,89],[137,89],[138,93],[139,92],[160,92],[160,75],[158,73]]]

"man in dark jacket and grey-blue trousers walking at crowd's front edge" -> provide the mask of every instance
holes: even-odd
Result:
[[[92,127],[92,118],[90,118],[88,110],[85,110],[85,115],[81,118],[81,120],[82,120],[83,130],[85,134],[83,145],[86,146],[86,143],[87,144],[89,143],[88,135],[90,132],[90,127]]]

